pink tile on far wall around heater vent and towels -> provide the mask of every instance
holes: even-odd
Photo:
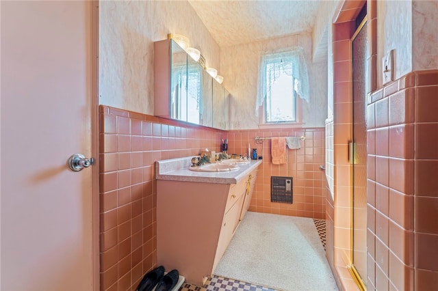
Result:
[[[250,211],[283,214],[298,217],[325,218],[324,189],[325,173],[319,169],[325,164],[325,128],[290,128],[270,130],[231,130],[223,133],[223,139],[229,139],[229,154],[248,152],[257,148],[257,154],[263,156],[263,163],[257,171],[255,192],[250,203]],[[284,165],[272,165],[269,139],[255,143],[255,137],[301,137],[300,150],[287,150]],[[270,201],[271,176],[293,177],[293,204]]]

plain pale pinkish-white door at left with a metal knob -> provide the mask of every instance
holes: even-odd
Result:
[[[66,165],[92,155],[92,3],[0,7],[0,289],[98,288],[96,167]]]

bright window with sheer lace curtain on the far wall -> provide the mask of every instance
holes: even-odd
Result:
[[[299,48],[263,55],[257,93],[257,109],[263,105],[263,123],[300,122],[296,97],[309,100],[307,84],[307,66]]]

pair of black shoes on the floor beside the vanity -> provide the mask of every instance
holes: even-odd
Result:
[[[177,270],[172,270],[164,275],[164,266],[159,266],[144,275],[136,291],[152,291],[155,286],[157,286],[155,291],[170,291],[177,285],[178,280]]]

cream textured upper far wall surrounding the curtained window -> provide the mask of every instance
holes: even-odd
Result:
[[[323,57],[318,63],[312,63],[311,33],[302,33],[222,48],[220,64],[224,76],[223,85],[233,96],[230,117],[231,129],[258,128],[259,117],[255,115],[255,102],[259,59],[263,53],[294,46],[305,48],[305,59],[309,71],[310,103],[307,105],[306,102],[303,102],[305,105],[302,111],[304,126],[324,126],[327,112],[327,61]]]

